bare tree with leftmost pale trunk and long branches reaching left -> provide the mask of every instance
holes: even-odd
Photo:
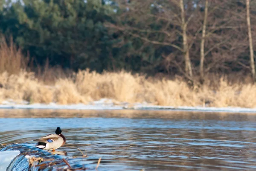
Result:
[[[179,72],[192,80],[193,71],[189,50],[200,30],[196,30],[196,34],[191,33],[188,31],[188,25],[192,18],[196,18],[195,14],[196,10],[199,9],[198,6],[190,6],[189,8],[192,8],[192,10],[189,11],[188,4],[184,4],[184,0],[133,1],[130,4],[122,0],[118,2],[122,9],[128,9],[120,15],[120,20],[133,18],[136,23],[143,23],[143,27],[133,26],[131,22],[127,25],[108,24],[107,26],[121,30],[125,34],[140,38],[148,43],[153,43],[156,46],[171,47],[173,50],[162,54],[164,60],[177,65]],[[186,6],[186,9],[184,6]],[[153,23],[161,25],[160,29],[152,28]],[[182,58],[180,58],[180,55]],[[172,57],[179,59],[172,60],[170,59]],[[170,64],[166,64],[167,66],[170,66]]]

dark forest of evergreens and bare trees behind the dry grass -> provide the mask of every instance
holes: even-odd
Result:
[[[0,0],[0,33],[34,65],[255,78],[256,0]]]

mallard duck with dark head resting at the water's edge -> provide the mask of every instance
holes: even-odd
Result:
[[[40,139],[36,139],[35,141],[38,141],[38,143],[35,146],[42,150],[55,151],[57,148],[61,147],[66,142],[65,136],[61,132],[61,128],[58,127],[55,130],[55,134],[49,134]]]

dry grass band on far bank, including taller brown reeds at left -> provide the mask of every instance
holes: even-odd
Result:
[[[204,86],[189,87],[182,79],[146,78],[131,72],[90,70],[77,73],[50,68],[26,71],[23,57],[10,39],[0,39],[0,102],[6,99],[30,103],[87,104],[102,98],[118,102],[148,102],[169,106],[256,107],[256,84],[250,77],[208,75]],[[230,76],[230,75],[229,75]],[[236,78],[236,79],[235,79]],[[242,79],[238,79],[242,78]]]

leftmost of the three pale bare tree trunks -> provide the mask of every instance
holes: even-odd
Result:
[[[186,74],[189,75],[189,77],[193,77],[192,73],[192,67],[191,67],[191,61],[189,58],[189,47],[188,47],[188,40],[186,35],[186,23],[185,23],[185,12],[184,12],[184,3],[183,0],[180,0],[180,9],[181,9],[181,20],[182,20],[182,30],[183,30],[183,49],[185,52],[185,71]]]

